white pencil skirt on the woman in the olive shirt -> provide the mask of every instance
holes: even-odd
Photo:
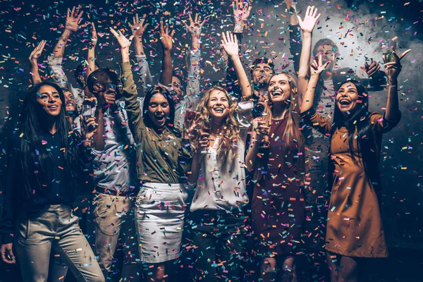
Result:
[[[188,192],[183,184],[144,183],[135,204],[135,226],[142,262],[179,257]]]

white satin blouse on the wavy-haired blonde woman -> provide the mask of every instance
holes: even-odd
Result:
[[[228,157],[223,158],[217,152],[220,137],[216,138],[213,147],[209,147],[207,156],[200,164],[191,212],[198,209],[229,210],[248,202],[245,188],[245,142],[251,127],[253,107],[252,101],[238,104],[240,137],[237,147],[231,149]]]

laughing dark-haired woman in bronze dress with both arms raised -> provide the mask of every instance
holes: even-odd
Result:
[[[383,116],[375,111],[368,112],[367,90],[355,80],[343,82],[338,89],[333,121],[320,116],[312,105],[319,74],[327,63],[323,64],[319,55],[319,60],[310,68],[301,115],[305,123],[329,136],[331,142],[329,176],[333,179],[325,248],[332,281],[338,278],[358,281],[359,257],[388,257],[379,209],[379,157],[382,135],[394,128],[401,118],[397,78],[401,70],[400,59],[409,51],[400,56],[394,54],[394,61],[385,64],[388,102]]]

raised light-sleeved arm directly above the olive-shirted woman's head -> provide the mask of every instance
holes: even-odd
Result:
[[[141,97],[145,97],[145,93],[147,93],[149,87],[152,87],[153,85],[153,78],[149,71],[147,56],[145,55],[144,47],[142,46],[142,35],[144,35],[144,32],[149,25],[149,23],[145,23],[146,17],[147,15],[144,15],[142,18],[139,18],[138,14],[135,14],[135,17],[133,17],[133,24],[129,24],[135,41],[135,58],[137,59],[141,80]]]

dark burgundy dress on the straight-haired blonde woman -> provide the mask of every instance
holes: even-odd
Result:
[[[288,257],[299,251],[305,221],[304,192],[295,167],[301,152],[292,138],[289,144],[283,142],[287,121],[271,121],[269,166],[252,197],[252,228],[264,257]]]

